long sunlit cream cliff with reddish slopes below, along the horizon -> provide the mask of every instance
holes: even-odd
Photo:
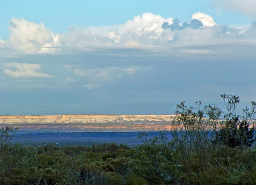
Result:
[[[0,116],[0,126],[19,133],[171,131],[174,115],[10,115]]]

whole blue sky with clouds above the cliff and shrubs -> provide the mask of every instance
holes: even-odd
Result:
[[[256,101],[255,0],[0,0],[0,115]],[[241,110],[242,108],[240,108]]]

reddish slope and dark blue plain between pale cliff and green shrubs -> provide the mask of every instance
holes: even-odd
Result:
[[[171,138],[169,123],[68,123],[68,124],[0,124],[0,127],[19,128],[13,142],[42,145],[92,145],[106,142],[136,146],[142,144],[139,133],[148,133],[148,138],[165,135]]]

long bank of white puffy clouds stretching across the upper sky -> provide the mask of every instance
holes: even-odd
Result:
[[[74,51],[95,52],[102,49],[139,49],[156,53],[176,52],[180,54],[187,51],[188,54],[217,54],[220,50],[213,45],[224,45],[233,41],[230,47],[234,47],[234,43],[240,44],[241,39],[246,39],[248,42],[254,40],[256,38],[254,28],[254,23],[241,29],[217,25],[210,15],[197,12],[192,15],[190,22],[181,23],[178,19],[143,13],[128,20],[125,24],[85,28],[70,27],[69,33],[59,35],[46,29],[43,23],[36,24],[25,19],[12,19],[9,29],[11,30],[11,45],[26,53],[49,53],[59,50],[69,54]],[[246,42],[243,41],[243,43]],[[206,45],[208,48],[205,48]],[[187,48],[188,46],[191,48]],[[203,50],[208,52],[202,52]],[[88,72],[90,71],[78,69],[75,74],[90,76]],[[119,76],[122,76],[122,72],[124,71],[119,72],[121,73]],[[103,74],[98,72],[98,75]]]

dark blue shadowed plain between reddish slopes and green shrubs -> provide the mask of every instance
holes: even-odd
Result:
[[[56,145],[92,145],[106,142],[115,142],[117,144],[127,144],[136,146],[142,144],[137,136],[141,132],[65,132],[65,133],[23,133],[16,134],[13,141],[25,144],[46,144],[54,143]],[[159,135],[160,132],[148,132],[148,138]],[[171,132],[165,132],[166,137],[171,139]]]

